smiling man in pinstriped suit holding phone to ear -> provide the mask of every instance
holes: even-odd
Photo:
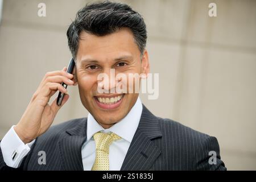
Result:
[[[153,115],[134,92],[116,88],[100,73],[150,69],[146,24],[131,7],[112,2],[85,6],[67,31],[76,67],[73,75],[48,72],[17,125],[0,145],[0,169],[22,170],[225,170],[217,139]],[[123,86],[122,80],[118,80]],[[49,98],[61,85],[78,85],[87,118],[49,128],[59,107]]]

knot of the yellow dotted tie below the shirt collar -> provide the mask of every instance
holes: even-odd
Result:
[[[114,133],[101,133],[98,132],[93,135],[96,143],[96,150],[101,150],[109,154],[109,146],[115,141],[121,139],[117,134]]]

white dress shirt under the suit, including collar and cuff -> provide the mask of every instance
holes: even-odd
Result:
[[[139,97],[125,118],[121,119],[121,121],[118,123],[115,123],[115,125],[109,129],[104,129],[101,125],[98,124],[92,114],[89,113],[87,118],[87,139],[82,145],[81,150],[82,165],[84,170],[88,171],[92,169],[96,156],[96,145],[93,139],[93,135],[98,131],[102,131],[104,133],[113,132],[122,138],[120,140],[114,141],[109,147],[109,169],[120,170],[126,153],[130,147],[131,140],[133,139],[135,131],[138,128],[141,114],[142,103]],[[3,154],[3,160],[5,161],[6,165],[9,167],[17,168],[22,162],[23,158],[30,151],[30,148],[35,140],[24,144],[15,133],[13,127],[14,126],[12,126],[5,137],[3,137],[0,143],[0,147]]]

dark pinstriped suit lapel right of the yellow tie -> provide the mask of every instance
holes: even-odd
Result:
[[[158,118],[143,105],[138,129],[131,141],[121,170],[149,170],[161,153],[152,140],[160,137],[162,137],[162,132]]]

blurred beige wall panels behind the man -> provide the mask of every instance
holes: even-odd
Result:
[[[44,74],[68,64],[66,31],[92,1],[1,1],[0,138],[15,125]],[[229,170],[256,170],[256,1],[133,0],[146,21],[151,73],[159,73],[152,113],[217,137]],[[209,3],[217,5],[210,17]],[[38,4],[46,4],[46,17]],[[86,117],[77,87],[54,125]]]

